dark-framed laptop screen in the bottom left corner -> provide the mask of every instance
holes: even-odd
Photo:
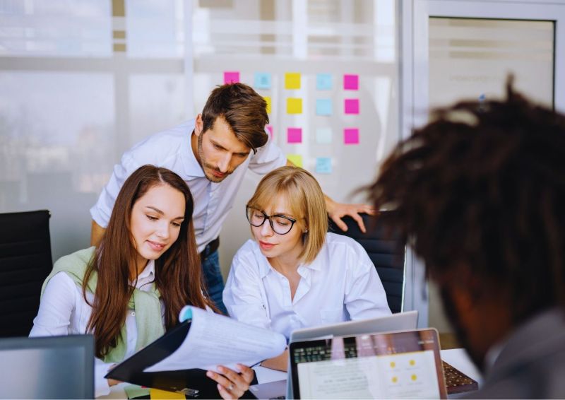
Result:
[[[0,339],[0,399],[93,398],[93,336]]]

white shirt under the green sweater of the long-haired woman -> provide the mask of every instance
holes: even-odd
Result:
[[[155,261],[150,260],[138,276],[136,288],[148,291],[150,283],[155,281]],[[86,292],[88,302],[94,300],[93,293]],[[49,280],[41,298],[40,310],[33,320],[30,336],[64,336],[85,334],[92,307],[83,298],[83,289],[64,272],[59,272]],[[161,319],[165,324],[165,306],[161,301]],[[126,315],[126,355],[136,352],[137,324],[136,313],[129,310]],[[105,379],[112,363],[95,360],[94,385],[95,396],[109,394],[108,381]]]

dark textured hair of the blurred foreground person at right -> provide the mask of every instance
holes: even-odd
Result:
[[[565,117],[512,88],[459,102],[396,146],[371,187],[435,281],[463,266],[511,323],[565,305]],[[469,276],[461,276],[461,279]]]

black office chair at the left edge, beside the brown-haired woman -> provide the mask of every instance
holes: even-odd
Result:
[[[53,267],[47,210],[0,213],[0,337],[28,336]]]

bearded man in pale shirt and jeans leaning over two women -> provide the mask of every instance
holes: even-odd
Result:
[[[227,211],[232,208],[247,169],[264,175],[283,165],[293,165],[266,134],[266,105],[261,95],[242,83],[219,86],[196,119],[149,136],[126,151],[90,209],[91,244],[100,242],[119,189],[133,171],[152,164],[176,172],[194,197],[194,231],[208,295],[226,312],[218,246]],[[341,217],[350,215],[364,231],[359,213],[372,211],[364,204],[339,204],[328,196],[326,206],[329,216],[343,230],[347,225]],[[158,249],[160,243],[151,245]]]

